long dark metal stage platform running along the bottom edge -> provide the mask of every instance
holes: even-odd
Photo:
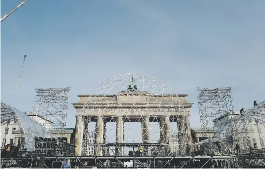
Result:
[[[42,158],[42,159],[41,159]],[[264,157],[251,156],[113,156],[1,158],[3,167],[58,168],[64,160],[71,168],[265,168]]]

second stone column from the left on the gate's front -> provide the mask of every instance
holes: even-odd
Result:
[[[104,120],[102,116],[97,117],[97,124],[95,125],[95,155],[102,156],[102,144],[104,133]]]

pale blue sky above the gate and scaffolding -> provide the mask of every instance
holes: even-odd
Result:
[[[191,127],[196,86],[232,87],[235,110],[264,100],[265,1],[150,2],[30,0],[1,23],[1,100],[31,110],[36,87],[70,86],[67,127],[78,94],[123,73],[188,94]],[[1,16],[19,3],[2,0]]]

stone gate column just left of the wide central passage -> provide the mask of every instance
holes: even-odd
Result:
[[[116,119],[116,143],[123,143],[124,139],[124,122],[123,117],[119,116]],[[117,146],[117,155],[123,155],[123,146]]]

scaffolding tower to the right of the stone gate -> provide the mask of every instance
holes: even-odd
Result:
[[[197,88],[199,114],[204,154],[213,154],[214,151],[230,149],[233,146],[234,108],[232,102],[231,88]],[[212,130],[216,130],[214,136]]]

